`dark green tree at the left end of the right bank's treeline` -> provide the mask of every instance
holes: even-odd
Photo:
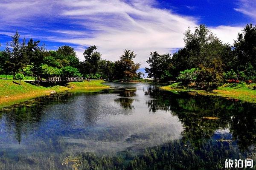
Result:
[[[150,68],[145,68],[145,72],[148,73],[149,78],[154,78],[154,80],[168,80],[172,77],[170,73],[170,69],[172,68],[170,54],[160,55],[157,51],[154,51],[150,53],[146,62],[150,66]]]

